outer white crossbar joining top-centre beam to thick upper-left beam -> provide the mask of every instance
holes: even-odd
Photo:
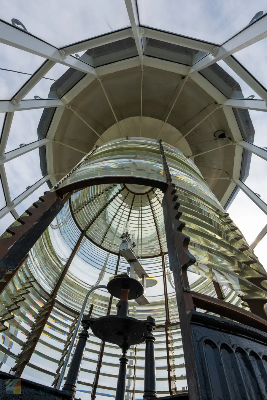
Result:
[[[81,51],[86,51],[98,46],[104,46],[112,42],[117,42],[118,40],[123,40],[130,38],[132,33],[130,28],[119,30],[117,32],[111,32],[103,36],[98,36],[96,38],[84,40],[83,42],[74,43],[71,46],[62,47],[60,50],[64,50],[66,55],[79,53]]]

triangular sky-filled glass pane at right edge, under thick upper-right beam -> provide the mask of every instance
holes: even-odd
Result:
[[[267,88],[267,76],[265,72],[265,65],[267,62],[267,38],[239,50],[234,56],[259,82],[261,82],[261,84],[263,84],[263,86],[265,86],[265,88]]]

